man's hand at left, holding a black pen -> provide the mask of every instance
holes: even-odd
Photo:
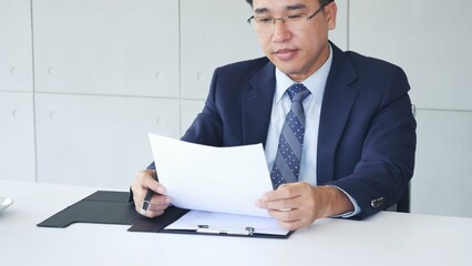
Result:
[[[143,215],[146,217],[156,217],[164,213],[164,209],[168,207],[172,198],[164,195],[165,187],[153,178],[155,175],[154,170],[144,170],[136,173],[134,182],[131,186],[133,191],[133,201],[136,212],[141,213],[141,205],[143,204],[144,196],[147,193],[147,190],[154,191],[154,195],[151,198],[150,206],[147,207],[146,213]]]

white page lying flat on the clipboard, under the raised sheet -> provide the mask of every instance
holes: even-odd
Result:
[[[244,234],[249,227],[255,234],[287,235],[289,233],[273,218],[201,211],[191,211],[165,228]]]

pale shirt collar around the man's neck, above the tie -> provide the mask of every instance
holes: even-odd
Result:
[[[321,104],[322,95],[325,94],[326,81],[328,80],[329,70],[332,63],[332,48],[329,44],[328,60],[315,73],[308,76],[301,83],[311,92],[317,104]],[[276,68],[276,92],[275,103],[279,103],[287,89],[296,83],[287,74]]]

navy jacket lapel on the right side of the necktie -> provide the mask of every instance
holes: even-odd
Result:
[[[336,149],[358,94],[350,86],[357,79],[346,54],[331,43],[334,58],[322,99],[318,132],[317,182],[324,185],[335,178]]]

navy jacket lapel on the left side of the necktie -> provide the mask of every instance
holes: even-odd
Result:
[[[274,64],[267,63],[249,83],[252,89],[242,95],[243,140],[265,145],[276,85]]]

